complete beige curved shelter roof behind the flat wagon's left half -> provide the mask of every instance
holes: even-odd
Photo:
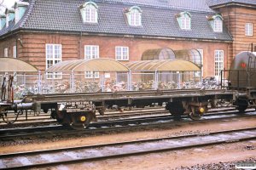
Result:
[[[125,65],[114,59],[75,59],[67,60],[50,66],[46,72],[61,71],[98,71],[121,72],[129,71]]]

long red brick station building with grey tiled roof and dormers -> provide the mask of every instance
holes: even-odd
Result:
[[[68,59],[142,59],[151,48],[201,53],[218,76],[255,42],[251,0],[24,0],[0,15],[0,55],[44,71]]]

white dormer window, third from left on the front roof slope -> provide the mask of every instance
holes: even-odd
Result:
[[[182,12],[177,14],[177,23],[182,30],[191,30],[191,14]]]

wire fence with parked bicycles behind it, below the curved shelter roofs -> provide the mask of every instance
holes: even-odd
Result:
[[[15,74],[15,99],[25,94],[67,94],[152,89],[201,88],[201,78],[192,72],[99,73],[87,77],[83,73]],[[3,83],[4,75],[0,75]]]

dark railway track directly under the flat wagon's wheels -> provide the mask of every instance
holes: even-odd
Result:
[[[2,141],[9,141],[15,139],[29,139],[29,138],[53,138],[56,136],[83,136],[95,133],[108,133],[108,132],[124,132],[125,130],[142,130],[153,127],[172,127],[177,124],[183,123],[197,123],[197,122],[209,122],[222,119],[232,119],[244,116],[256,116],[255,111],[248,110],[243,115],[237,115],[236,112],[223,112],[223,113],[212,113],[204,116],[204,119],[200,121],[191,121],[189,118],[183,117],[183,120],[177,121],[172,116],[153,116],[143,118],[130,118],[119,121],[108,121],[108,122],[95,122],[91,123],[90,127],[84,130],[73,130],[62,127],[61,125],[47,126],[47,127],[25,127],[25,128],[12,128],[12,129],[1,129],[0,139]]]

